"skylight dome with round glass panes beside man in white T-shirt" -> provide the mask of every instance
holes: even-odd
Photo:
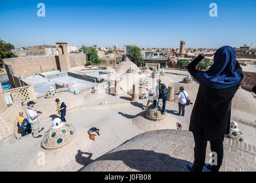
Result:
[[[68,146],[76,136],[76,129],[67,122],[61,122],[60,118],[53,120],[53,125],[45,132],[41,142],[42,148],[57,151]]]

